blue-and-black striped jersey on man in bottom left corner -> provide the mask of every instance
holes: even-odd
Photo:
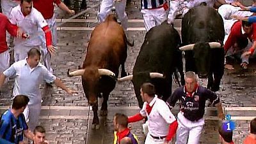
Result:
[[[23,131],[28,129],[23,113],[20,113],[18,119],[16,119],[11,110],[7,110],[1,120],[1,138],[12,143],[19,143],[23,140]]]

